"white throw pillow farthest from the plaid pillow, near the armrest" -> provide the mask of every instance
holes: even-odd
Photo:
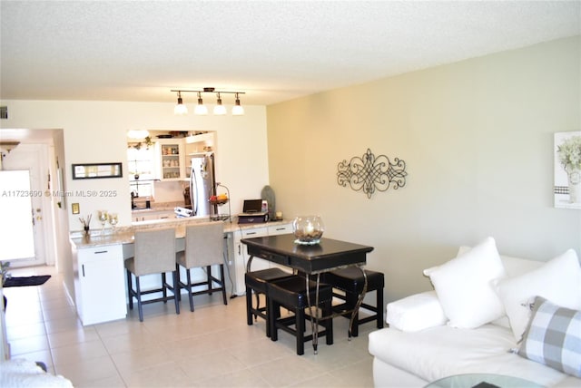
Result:
[[[487,238],[447,263],[428,268],[429,276],[448,325],[475,328],[504,314],[492,284],[505,276],[494,238]]]

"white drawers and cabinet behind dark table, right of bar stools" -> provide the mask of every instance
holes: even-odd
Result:
[[[275,236],[286,233],[292,233],[292,223],[280,223],[277,225],[256,224],[255,228],[246,227],[232,232],[232,247],[228,252],[231,255],[231,257],[229,257],[229,262],[231,263],[229,268],[233,269],[234,272],[234,278],[232,279],[232,282],[234,283],[234,294],[244,295],[246,293],[244,274],[246,273],[246,263],[248,263],[250,257],[246,251],[246,246],[241,243],[241,239],[260,238],[262,236]],[[260,257],[252,258],[252,271],[271,267],[281,267],[282,269],[291,272],[289,267],[279,266],[270,261],[263,260]]]

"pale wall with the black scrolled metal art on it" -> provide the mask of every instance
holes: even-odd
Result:
[[[386,300],[430,288],[422,269],[487,236],[501,253],[581,256],[581,211],[553,208],[553,133],[581,128],[579,37],[487,55],[267,109],[271,187],[287,217],[375,247]],[[407,164],[401,189],[340,187],[370,149]]]

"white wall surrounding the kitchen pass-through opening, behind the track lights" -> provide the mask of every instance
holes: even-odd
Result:
[[[232,213],[241,211],[243,199],[260,198],[268,184],[266,110],[244,106],[244,116],[174,116],[174,103],[2,101],[9,119],[2,128],[63,129],[64,172],[70,230],[79,230],[79,216],[93,215],[92,228],[100,228],[100,209],[119,214],[120,226],[131,223],[131,197],[127,176],[126,132],[216,131],[216,179],[231,192]],[[210,110],[212,107],[209,108]],[[123,179],[71,179],[71,164],[123,162]],[[102,190],[115,197],[102,197]],[[94,193],[97,194],[94,197]],[[73,215],[71,203],[80,204]]]

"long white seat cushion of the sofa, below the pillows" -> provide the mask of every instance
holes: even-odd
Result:
[[[477,329],[441,325],[415,333],[385,328],[369,334],[370,354],[427,382],[461,373],[507,374],[544,386],[566,380],[565,373],[510,353],[514,347],[509,328],[490,324]]]

